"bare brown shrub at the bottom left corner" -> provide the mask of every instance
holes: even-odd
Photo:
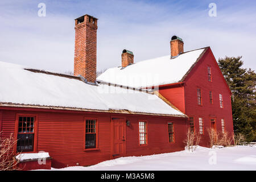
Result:
[[[16,142],[13,134],[6,138],[0,138],[0,171],[18,169],[16,164],[19,163],[19,160],[15,160],[14,155],[14,145]]]

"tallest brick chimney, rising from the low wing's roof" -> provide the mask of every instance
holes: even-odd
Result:
[[[97,18],[84,15],[75,19],[74,75],[96,82]]]

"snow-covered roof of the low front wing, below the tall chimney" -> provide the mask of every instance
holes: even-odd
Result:
[[[103,84],[89,85],[79,77],[57,76],[25,68],[0,61],[0,106],[15,104],[98,111],[128,110],[130,113],[184,117],[183,113],[156,95]]]

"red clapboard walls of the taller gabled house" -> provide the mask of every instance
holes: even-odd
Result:
[[[208,81],[208,66],[211,68],[212,81]],[[201,88],[202,105],[197,104],[197,88]],[[213,104],[210,104],[210,91]],[[216,117],[218,132],[221,132],[221,119],[225,119],[225,130],[233,135],[231,92],[210,48],[185,78],[183,86],[159,86],[159,93],[188,117],[194,118],[196,131],[199,131],[199,118],[203,118],[204,135],[200,145],[208,146],[207,129],[210,127],[211,116]],[[222,94],[224,108],[220,108],[219,94]]]

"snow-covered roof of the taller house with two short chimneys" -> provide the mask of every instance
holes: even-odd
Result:
[[[172,58],[171,55],[139,61],[125,68],[109,68],[97,81],[143,88],[180,82],[206,48],[184,52]]]

